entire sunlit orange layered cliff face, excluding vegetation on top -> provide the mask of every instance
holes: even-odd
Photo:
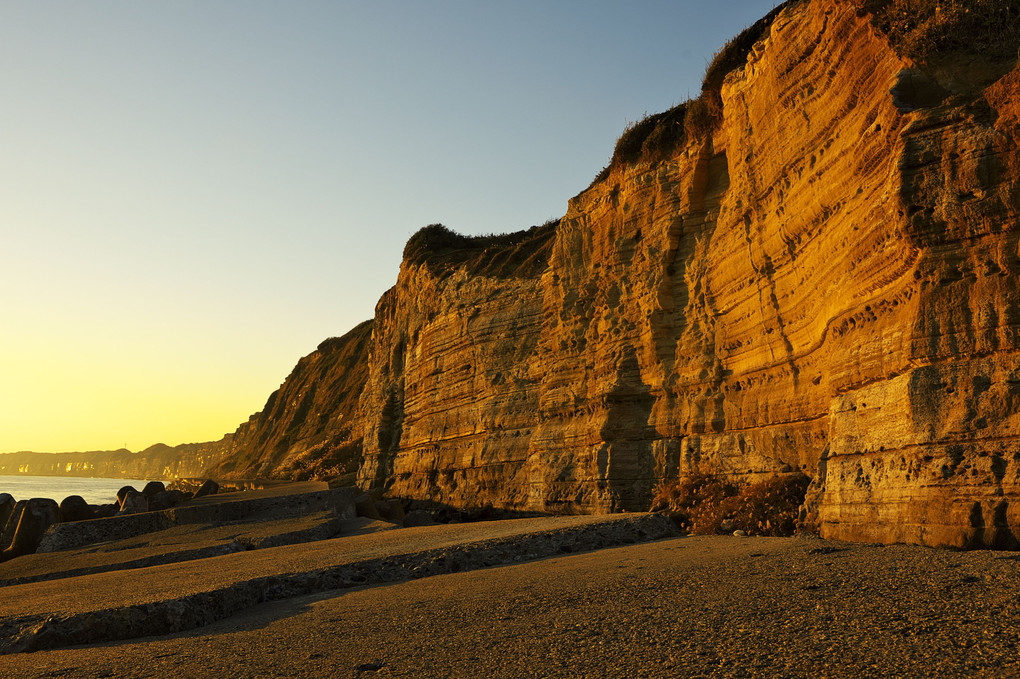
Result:
[[[1001,71],[973,68],[793,3],[726,77],[721,124],[614,163],[544,270],[405,262],[361,481],[610,511],[683,472],[802,471],[826,536],[1015,541],[1020,76],[982,92]]]

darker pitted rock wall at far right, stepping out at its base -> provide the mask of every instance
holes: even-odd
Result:
[[[833,396],[823,535],[1020,546],[1016,70],[905,112],[892,190],[917,252],[906,365]]]

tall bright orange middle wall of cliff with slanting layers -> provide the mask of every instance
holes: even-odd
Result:
[[[917,256],[889,256],[901,68],[856,12],[788,8],[727,79],[715,134],[571,202],[546,279],[543,346],[563,360],[536,502],[577,502],[565,469],[594,510],[639,509],[677,472],[816,474],[832,393],[902,351],[885,342]]]

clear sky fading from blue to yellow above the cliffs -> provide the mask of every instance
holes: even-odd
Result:
[[[0,453],[215,440],[404,243],[566,212],[772,0],[0,0]]]

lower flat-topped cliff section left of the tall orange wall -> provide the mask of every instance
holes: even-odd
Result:
[[[375,312],[361,483],[459,506],[529,505],[554,229],[405,259]]]

